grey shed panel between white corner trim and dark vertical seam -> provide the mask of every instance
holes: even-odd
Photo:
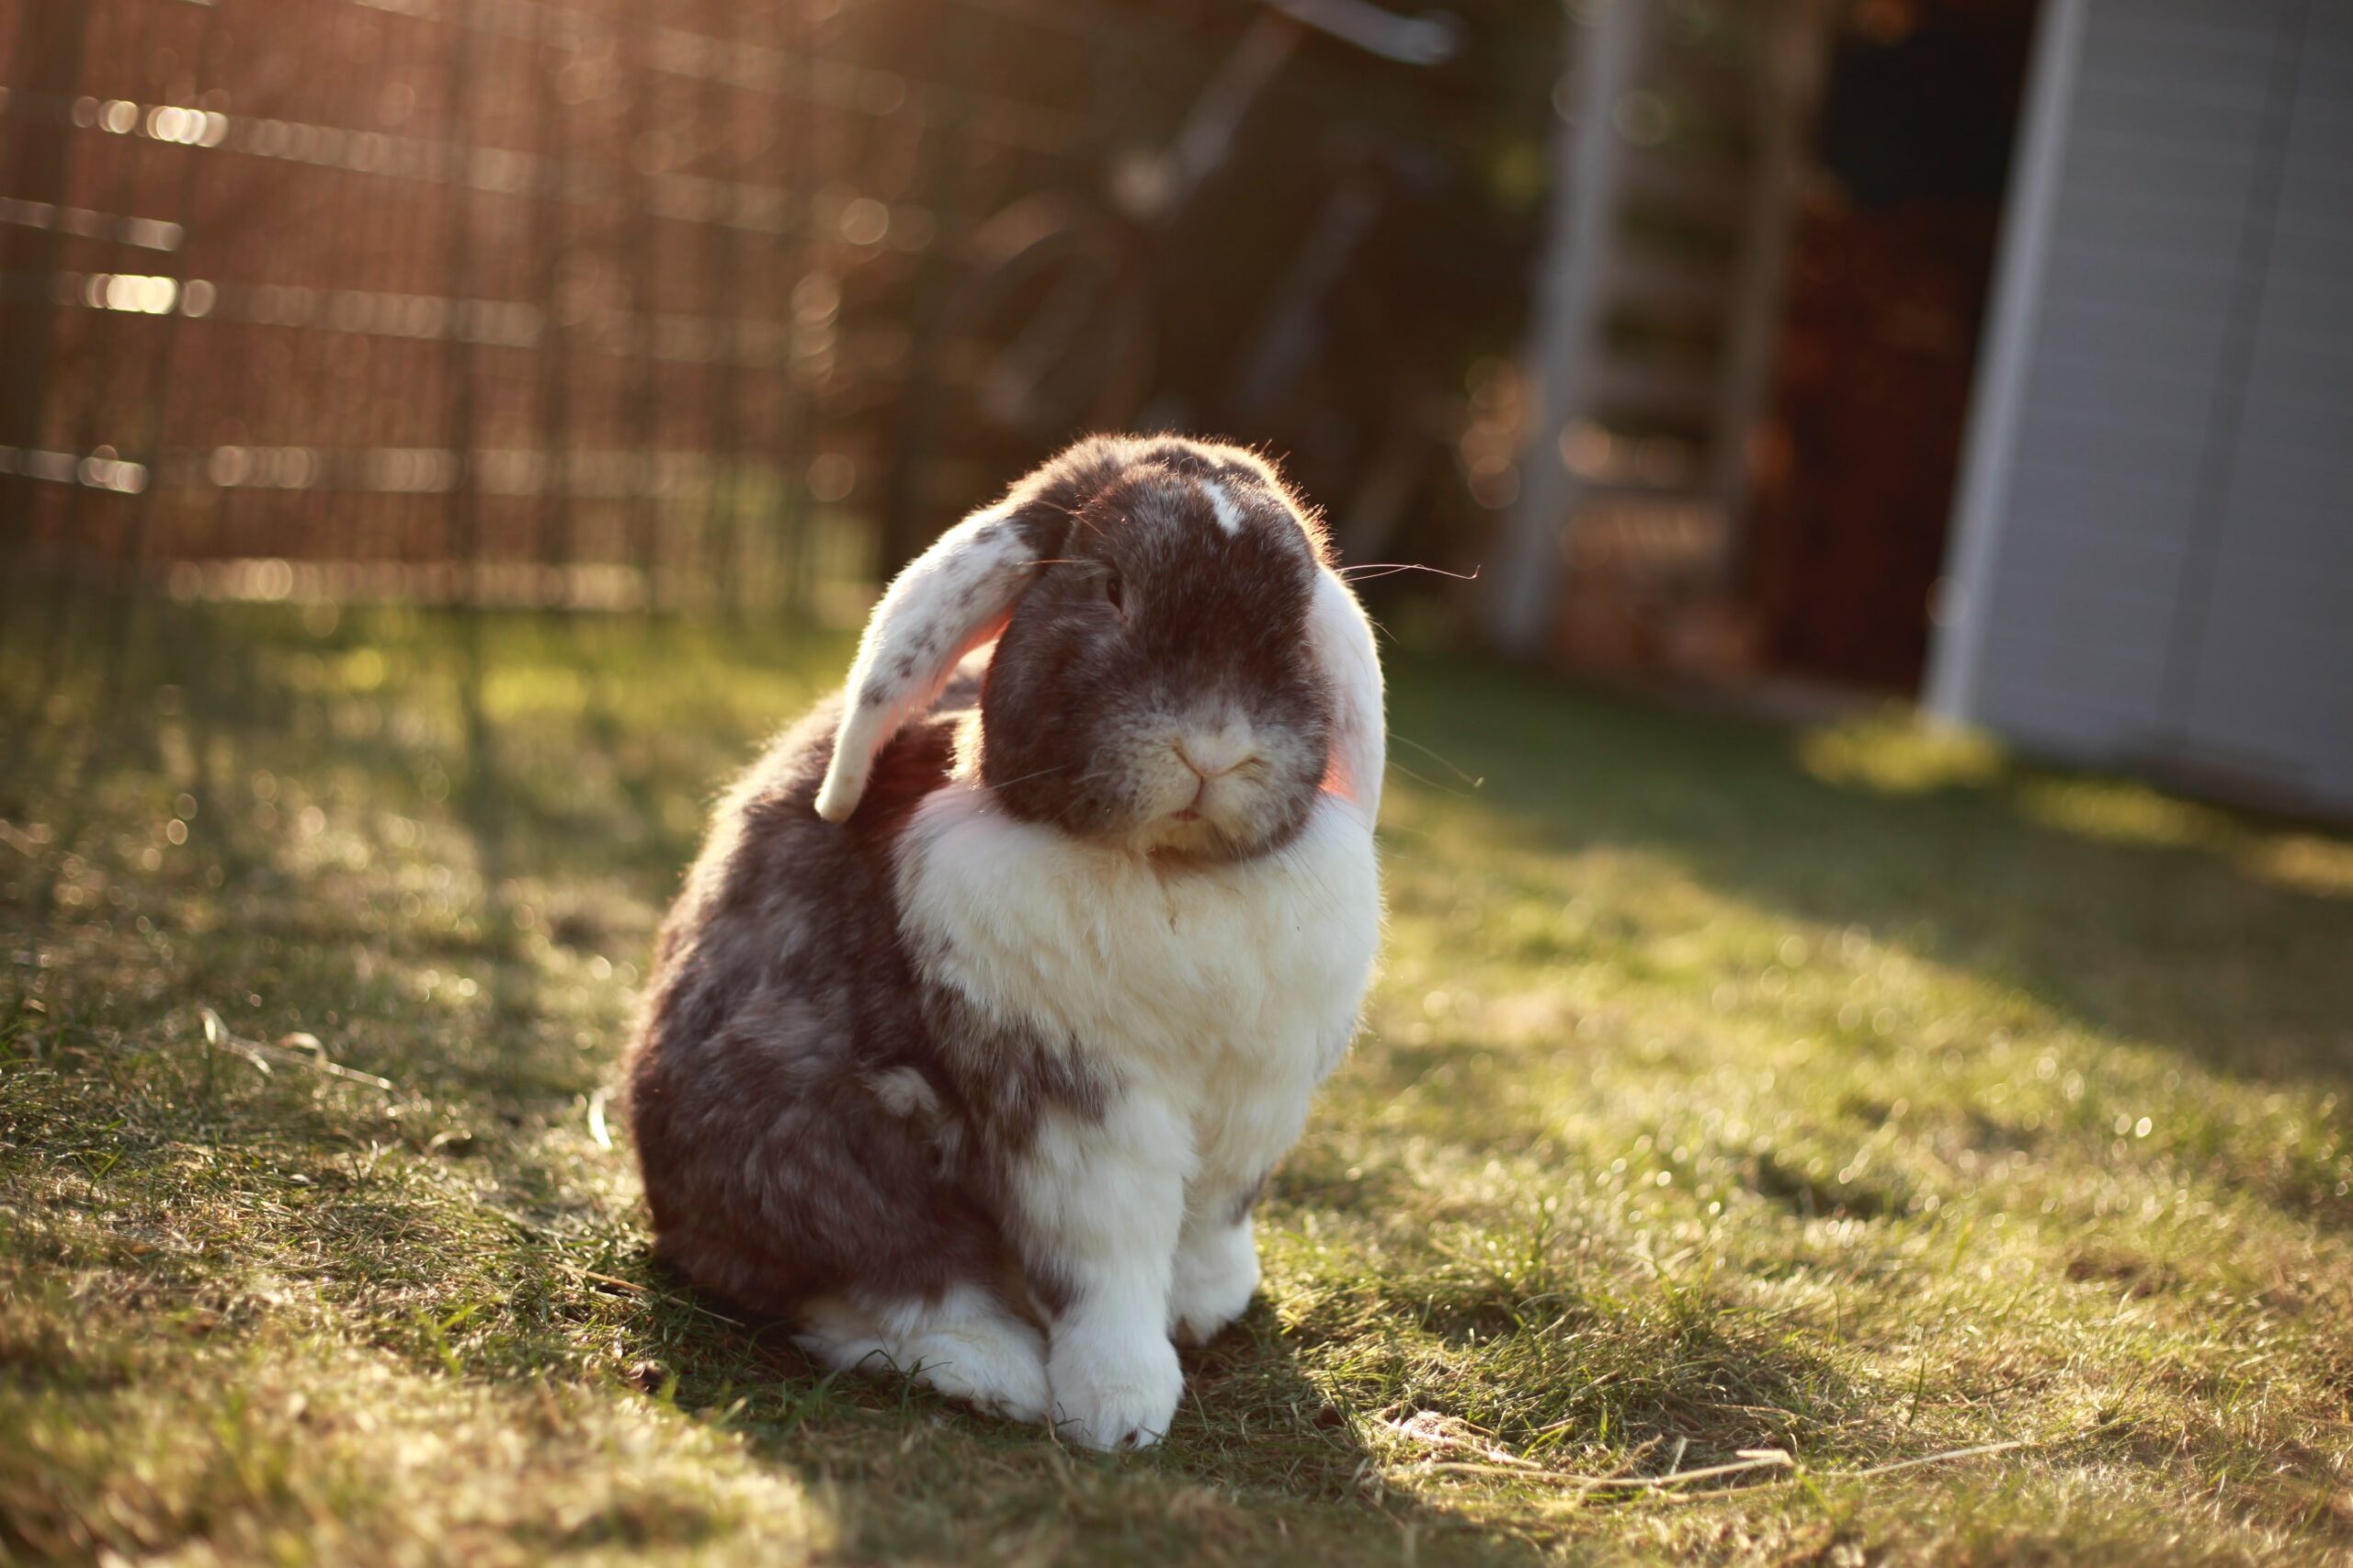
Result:
[[[2268,47],[2195,0],[2089,0],[1979,611],[1977,717],[1998,729],[2129,750],[2162,724]]]

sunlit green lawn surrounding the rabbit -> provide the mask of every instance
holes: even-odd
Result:
[[[1398,654],[1369,1030],[1096,1458],[718,1316],[595,1135],[845,639],[64,646],[0,663],[0,1561],[2353,1561],[2329,832]]]

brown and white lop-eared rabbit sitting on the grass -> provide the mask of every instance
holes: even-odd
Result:
[[[1384,752],[1369,621],[1259,456],[1089,437],[965,517],[656,938],[656,1253],[824,1366],[1155,1443],[1358,1027]]]

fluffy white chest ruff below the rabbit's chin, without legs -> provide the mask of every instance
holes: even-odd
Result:
[[[925,978],[1162,1095],[1202,1164],[1289,1145],[1379,947],[1372,835],[1346,802],[1322,797],[1278,853],[1179,872],[1007,818],[969,785],[925,799],[901,844]]]

